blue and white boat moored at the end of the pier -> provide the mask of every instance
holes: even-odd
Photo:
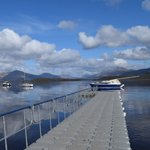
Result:
[[[92,90],[120,90],[124,84],[118,79],[90,83]]]

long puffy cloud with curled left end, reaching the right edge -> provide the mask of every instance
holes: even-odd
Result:
[[[86,49],[99,46],[121,47],[128,45],[150,45],[150,27],[135,26],[121,31],[112,25],[102,26],[95,36],[79,33],[79,41]]]

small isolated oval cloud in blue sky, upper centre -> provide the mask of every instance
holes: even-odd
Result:
[[[61,29],[72,30],[76,27],[76,23],[71,20],[63,20],[59,22],[58,27]]]

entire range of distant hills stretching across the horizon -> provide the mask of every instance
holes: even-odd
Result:
[[[4,76],[4,75],[3,75]],[[85,75],[82,78],[63,78],[58,75],[53,75],[50,73],[43,73],[40,75],[33,75],[29,73],[25,73],[25,80],[27,81],[33,81],[33,82],[51,82],[51,81],[68,81],[68,80],[93,80],[93,79],[112,79],[112,78],[120,78],[120,77],[128,77],[128,76],[140,76],[139,79],[134,80],[150,80],[150,68],[147,69],[139,69],[139,70],[127,70],[125,68],[115,68],[113,70],[105,71],[99,74],[95,75]],[[19,83],[24,80],[24,72],[15,70],[8,74],[6,74],[4,77],[1,78],[2,81],[8,80],[10,82]],[[133,80],[133,79],[128,79]]]

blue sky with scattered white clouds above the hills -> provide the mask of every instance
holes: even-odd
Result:
[[[0,72],[148,67],[150,0],[0,0]]]

